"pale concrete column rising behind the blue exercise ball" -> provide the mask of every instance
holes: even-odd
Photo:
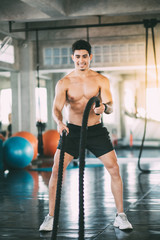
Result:
[[[33,44],[20,46],[21,130],[37,135],[35,111],[36,76],[33,65]]]

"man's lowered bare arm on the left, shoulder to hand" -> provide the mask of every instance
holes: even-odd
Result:
[[[65,88],[64,80],[59,80],[56,85],[55,98],[53,101],[53,118],[57,123],[57,128],[60,134],[62,134],[62,131],[64,129],[66,129],[66,131],[68,132],[68,128],[63,123],[62,116],[62,110],[66,102],[66,91],[67,89]]]

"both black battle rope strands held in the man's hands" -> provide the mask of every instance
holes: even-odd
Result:
[[[84,167],[85,167],[85,147],[87,138],[87,123],[90,109],[95,102],[96,107],[99,107],[100,100],[98,97],[92,97],[84,110],[81,135],[80,135],[80,147],[79,147],[79,240],[84,240]],[[57,192],[56,192],[56,202],[55,202],[55,213],[53,218],[53,229],[51,240],[57,239],[57,226],[59,218],[60,200],[61,200],[61,188],[63,179],[63,162],[64,162],[64,144],[65,144],[65,134],[62,134],[62,144],[60,152],[60,161],[58,169],[58,181],[57,181]]]

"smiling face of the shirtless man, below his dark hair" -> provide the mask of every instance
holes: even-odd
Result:
[[[72,60],[75,64],[75,69],[80,71],[85,71],[89,68],[90,61],[92,59],[92,54],[89,56],[87,50],[75,50],[74,55],[72,55]]]

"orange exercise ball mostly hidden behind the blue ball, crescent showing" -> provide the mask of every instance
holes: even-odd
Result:
[[[33,147],[33,150],[34,150],[34,155],[33,155],[33,159],[36,159],[37,158],[37,154],[38,154],[38,140],[37,138],[30,132],[26,132],[26,131],[21,131],[21,132],[16,132],[12,135],[12,137],[23,137],[25,139],[27,139],[32,147]]]

